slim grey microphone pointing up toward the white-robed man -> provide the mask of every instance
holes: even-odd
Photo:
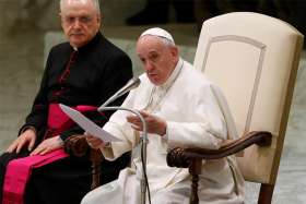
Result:
[[[139,77],[132,77],[131,80],[128,81],[128,83],[121,87],[118,92],[116,92],[110,98],[108,98],[101,107],[98,107],[98,111],[102,110],[103,107],[106,107],[120,96],[125,95],[126,93],[130,92],[133,88],[137,88],[140,84]]]

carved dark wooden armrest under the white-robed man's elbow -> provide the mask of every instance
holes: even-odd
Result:
[[[246,133],[237,140],[225,141],[219,149],[175,147],[167,154],[169,167],[189,168],[193,159],[219,159],[236,154],[252,144],[270,146],[272,134],[267,131]]]

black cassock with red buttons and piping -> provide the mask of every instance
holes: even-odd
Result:
[[[69,43],[54,47],[48,56],[40,88],[34,100],[31,113],[26,117],[21,131],[34,127],[37,131],[36,145],[48,135],[47,120],[50,104],[64,104],[98,107],[132,77],[129,57],[98,33],[87,45],[73,49]],[[113,105],[120,105],[122,99]],[[86,113],[93,121],[103,125],[105,116],[97,111]],[[106,112],[106,118],[110,112]],[[60,134],[64,141],[83,130],[76,124]],[[2,187],[7,164],[19,157],[27,156],[5,153],[0,157],[0,184]],[[104,160],[102,182],[118,177],[120,169],[130,161],[129,154],[116,161]],[[25,204],[76,204],[90,191],[91,163],[85,157],[68,157],[34,169],[25,192]],[[2,189],[2,188],[1,188]],[[2,196],[0,194],[0,199]]]

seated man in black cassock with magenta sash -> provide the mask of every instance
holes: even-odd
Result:
[[[84,111],[103,125],[109,115],[98,113],[96,107],[132,77],[129,57],[99,32],[98,0],[60,0],[60,19],[69,43],[51,48],[32,110],[17,139],[0,157],[2,203],[80,203],[90,191],[91,163],[85,157],[64,155],[62,147],[64,140],[84,131],[69,121],[58,105]],[[116,179],[129,161],[129,154],[115,161],[103,161],[102,182]],[[26,167],[30,170],[23,171],[22,165],[16,169],[20,163],[31,164]],[[23,179],[27,183],[19,184]]]

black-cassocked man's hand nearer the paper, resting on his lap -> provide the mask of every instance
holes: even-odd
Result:
[[[63,146],[63,141],[60,136],[54,136],[43,141],[30,155],[45,155],[55,149],[61,148]]]

